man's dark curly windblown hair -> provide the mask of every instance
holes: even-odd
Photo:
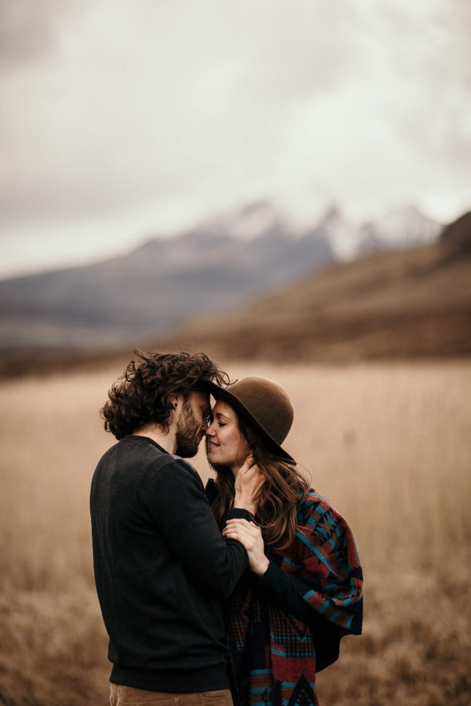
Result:
[[[109,400],[100,409],[106,431],[117,439],[131,434],[144,424],[159,424],[167,430],[172,412],[170,400],[205,389],[205,383],[220,386],[229,376],[204,353],[148,353],[134,351],[124,375],[113,383]]]

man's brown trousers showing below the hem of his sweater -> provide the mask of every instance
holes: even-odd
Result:
[[[111,706],[232,706],[229,689],[174,694],[110,684]]]

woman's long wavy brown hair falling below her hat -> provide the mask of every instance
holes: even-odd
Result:
[[[265,544],[277,549],[286,549],[294,539],[297,528],[297,503],[309,484],[299,473],[295,464],[279,458],[267,447],[266,441],[249,422],[237,415],[239,431],[246,438],[254,463],[265,477],[258,495],[256,519],[261,525]],[[234,502],[234,475],[227,466],[211,465],[217,474],[217,498],[213,502],[213,513],[220,527]]]

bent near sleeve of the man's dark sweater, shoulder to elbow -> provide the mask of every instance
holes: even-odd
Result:
[[[239,542],[221,537],[196,470],[172,458],[150,481],[145,503],[191,581],[228,597],[248,566],[247,554]]]

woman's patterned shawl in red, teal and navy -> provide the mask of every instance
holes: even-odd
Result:
[[[341,628],[337,635],[359,635],[362,568],[350,527],[312,489],[299,502],[297,519],[294,542],[273,558],[306,604],[329,621],[327,628],[332,623]],[[315,630],[315,621],[309,626],[286,614],[246,575],[227,605],[239,706],[318,706]]]

